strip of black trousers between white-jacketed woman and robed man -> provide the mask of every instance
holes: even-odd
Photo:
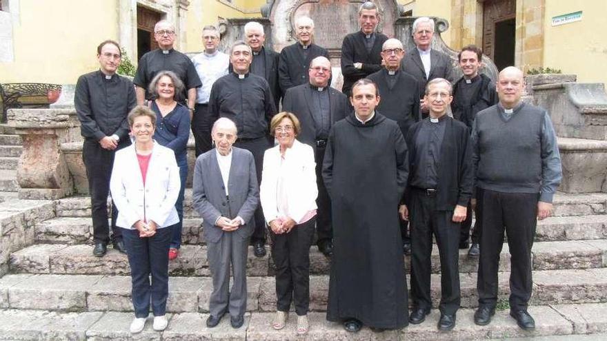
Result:
[[[316,234],[317,243],[320,244],[333,238],[333,228],[331,225],[331,198],[325,187],[322,178],[322,164],[325,158],[325,146],[316,147],[316,183],[318,185],[318,196],[316,198],[317,216],[316,216]]]

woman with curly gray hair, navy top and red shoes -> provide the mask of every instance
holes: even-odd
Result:
[[[175,152],[179,166],[181,189],[175,209],[179,214],[179,223],[172,228],[172,240],[168,259],[179,256],[181,247],[181,229],[183,227],[183,193],[188,178],[188,138],[190,137],[190,110],[176,101],[183,91],[183,83],[172,71],[161,71],[150,82],[150,94],[155,100],[150,101],[150,108],[156,113],[157,127],[154,140]]]

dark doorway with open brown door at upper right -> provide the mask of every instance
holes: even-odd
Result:
[[[482,3],[483,52],[495,61],[497,70],[515,65],[517,1],[484,0]]]

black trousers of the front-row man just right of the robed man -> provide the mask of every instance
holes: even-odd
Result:
[[[452,221],[453,211],[439,211],[436,196],[425,190],[411,191],[409,217],[411,223],[411,295],[413,307],[430,310],[430,273],[432,234],[441,259],[441,313],[452,315],[459,309],[459,223]]]

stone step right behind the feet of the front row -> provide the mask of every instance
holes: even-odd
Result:
[[[500,305],[508,303],[508,276],[499,273]],[[409,280],[407,280],[409,282]],[[477,274],[461,273],[461,307],[477,307]],[[607,302],[607,269],[534,271],[530,304]],[[310,310],[326,311],[329,277],[310,276]],[[273,276],[247,279],[247,311],[275,311]],[[432,305],[440,300],[440,276],[432,275]],[[210,277],[169,278],[167,311],[207,312]],[[18,273],[0,278],[0,308],[52,311],[132,311],[130,276]]]

